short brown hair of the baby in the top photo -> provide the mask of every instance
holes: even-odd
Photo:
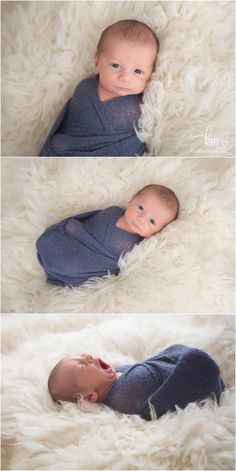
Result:
[[[102,32],[97,45],[98,55],[102,52],[105,39],[109,34],[116,34],[121,38],[136,41],[140,44],[151,42],[152,39],[154,39],[157,46],[157,53],[159,51],[159,40],[149,26],[137,20],[120,20],[108,26]]]

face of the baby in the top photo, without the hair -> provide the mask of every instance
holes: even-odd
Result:
[[[95,56],[101,100],[144,91],[157,55],[155,44],[137,44],[116,36],[108,38]]]

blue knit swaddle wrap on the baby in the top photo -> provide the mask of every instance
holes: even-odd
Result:
[[[57,117],[40,155],[138,156],[146,150],[136,135],[142,93],[101,101],[98,75],[82,80]]]

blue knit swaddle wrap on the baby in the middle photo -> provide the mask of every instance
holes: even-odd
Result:
[[[118,260],[143,238],[116,227],[124,209],[111,206],[63,219],[36,241],[47,281],[79,286],[91,277],[119,272]]]

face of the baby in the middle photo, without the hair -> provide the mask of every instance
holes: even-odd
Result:
[[[150,237],[173,220],[173,211],[154,191],[146,190],[129,202],[124,220],[129,232]]]

